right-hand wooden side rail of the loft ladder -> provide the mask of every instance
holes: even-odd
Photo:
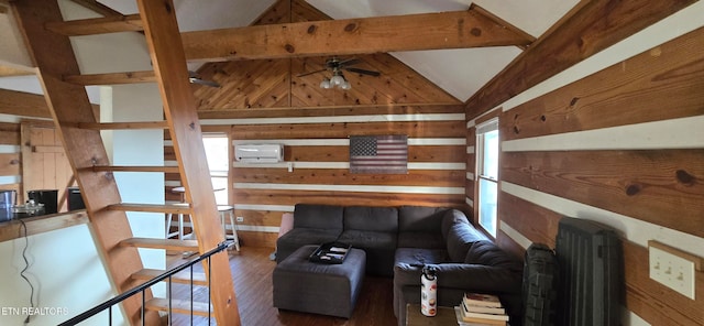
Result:
[[[191,204],[194,233],[199,252],[205,253],[224,241],[224,236],[210,182],[196,100],[188,82],[175,7],[170,0],[136,2],[180,169],[185,198]],[[228,254],[215,254],[210,258],[209,268],[207,264],[204,261],[204,270],[211,283],[217,284],[210,289],[210,297],[218,325],[241,325]]]

